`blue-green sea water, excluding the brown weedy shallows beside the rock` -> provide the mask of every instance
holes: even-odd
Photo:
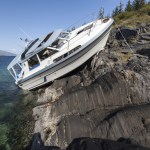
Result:
[[[19,88],[7,71],[7,66],[14,57],[0,56],[0,150],[10,150],[8,144],[9,125],[7,116],[13,111]]]

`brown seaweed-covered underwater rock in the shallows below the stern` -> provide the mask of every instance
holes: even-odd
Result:
[[[32,139],[34,127],[32,108],[36,103],[35,93],[25,92],[19,97],[13,112],[6,119],[9,125],[8,143],[12,150],[26,149]]]

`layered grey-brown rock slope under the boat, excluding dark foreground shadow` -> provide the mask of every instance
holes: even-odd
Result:
[[[38,90],[34,133],[45,146],[66,148],[75,138],[91,137],[150,147],[150,59],[144,44],[134,45],[148,30],[141,28],[128,35],[132,52],[113,40],[114,30],[104,51]]]

